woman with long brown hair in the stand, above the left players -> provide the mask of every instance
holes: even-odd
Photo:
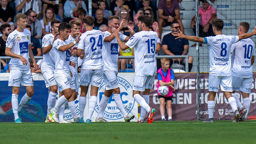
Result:
[[[55,13],[52,8],[48,7],[44,12],[44,17],[42,20],[40,20],[42,25],[43,36],[46,34],[50,34],[52,32],[51,22],[52,20],[56,19]]]

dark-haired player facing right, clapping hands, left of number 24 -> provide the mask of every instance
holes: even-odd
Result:
[[[71,49],[74,45],[76,45],[80,41],[79,37],[81,36],[81,35],[77,36],[74,42],[70,44],[66,44],[65,41],[68,39],[70,28],[71,26],[68,23],[65,23],[65,22],[60,23],[59,29],[58,29],[59,38],[55,40],[52,45],[53,50],[56,51],[54,52],[56,54],[53,57],[54,63],[55,63],[54,79],[58,85],[60,92],[64,94],[59,98],[55,107],[51,109],[52,118],[57,123],[69,123],[64,119],[59,119],[58,112],[60,110],[60,107],[62,107],[66,101],[70,101],[69,99],[72,96],[72,90],[70,87],[71,76],[69,72],[69,64],[70,64],[69,49]],[[72,48],[72,49],[75,49],[75,48]],[[63,109],[65,110],[65,108]],[[63,110],[63,113],[64,113],[64,110]]]

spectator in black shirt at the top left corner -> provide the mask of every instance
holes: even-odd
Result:
[[[14,11],[10,8],[8,4],[8,0],[0,0],[1,8],[0,8],[0,26],[2,24],[9,24],[11,25],[12,31],[14,30],[15,26],[13,23]]]

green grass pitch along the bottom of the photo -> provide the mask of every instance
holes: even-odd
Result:
[[[256,121],[172,121],[153,124],[112,122],[92,124],[0,123],[0,143],[256,143]]]

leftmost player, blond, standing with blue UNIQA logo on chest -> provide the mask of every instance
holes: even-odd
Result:
[[[14,122],[22,123],[21,108],[31,99],[34,94],[34,82],[29,67],[28,56],[33,61],[34,69],[37,70],[36,60],[31,50],[30,31],[26,28],[27,16],[23,13],[16,15],[17,28],[8,35],[6,41],[5,55],[12,57],[11,70],[8,86],[12,86],[12,111]],[[18,104],[20,85],[26,87],[26,93]]]

